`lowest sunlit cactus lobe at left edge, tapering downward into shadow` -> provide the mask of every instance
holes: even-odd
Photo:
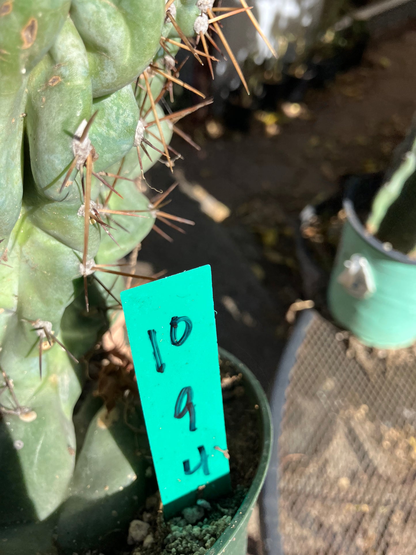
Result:
[[[13,334],[16,351],[28,352],[35,337],[32,333],[29,342],[29,333],[28,324],[13,316],[4,342],[11,341]],[[0,509],[2,525],[43,520],[62,503],[74,469],[72,409],[81,391],[77,373],[58,345],[43,356],[43,382],[39,381],[37,359],[22,360],[16,351],[9,352],[7,360],[3,357],[2,367],[14,362],[14,394],[21,407],[30,410],[17,407],[11,396],[3,394],[6,399],[2,402],[16,414],[3,414],[0,421],[0,466],[8,473],[2,495],[10,500]],[[37,380],[31,379],[34,370]]]

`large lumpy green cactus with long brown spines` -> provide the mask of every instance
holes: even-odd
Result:
[[[154,491],[137,397],[110,412],[88,388],[79,398],[79,360],[120,309],[123,276],[154,279],[118,263],[151,229],[165,235],[156,218],[174,219],[161,211],[168,191],[153,203],[144,194],[144,173],[159,159],[172,168],[173,132],[190,141],[176,122],[210,102],[161,108],[173,83],[204,97],[179,79],[179,48],[214,76],[210,32],[230,53],[217,20],[247,11],[212,9],[210,0],[0,0],[4,555],[108,546]]]

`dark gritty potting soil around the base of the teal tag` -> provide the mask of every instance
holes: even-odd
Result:
[[[247,395],[245,382],[229,361],[221,361],[221,387],[230,459],[232,493],[206,501],[204,490],[194,507],[164,521],[158,495],[146,500],[141,521],[150,524],[134,555],[203,555],[225,531],[237,513],[255,476],[260,459],[258,406]]]

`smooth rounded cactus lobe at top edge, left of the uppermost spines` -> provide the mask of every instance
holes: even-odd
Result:
[[[93,96],[130,84],[159,48],[164,0],[73,0],[70,16],[87,47]]]

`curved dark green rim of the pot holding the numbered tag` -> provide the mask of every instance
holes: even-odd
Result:
[[[273,445],[273,429],[272,429],[272,416],[266,393],[263,391],[260,382],[258,382],[255,375],[234,355],[231,355],[225,349],[219,347],[220,356],[229,360],[231,364],[236,366],[242,373],[243,377],[250,384],[252,391],[258,402],[258,410],[260,412],[261,423],[260,432],[262,436],[262,449],[260,453],[260,460],[256,474],[253,478],[251,486],[247,492],[246,497],[237,510],[234,518],[229,526],[217,539],[214,545],[206,552],[206,555],[214,555],[215,553],[222,553],[226,551],[227,546],[234,541],[237,532],[241,532],[241,523],[245,520],[247,513],[253,508],[258,496],[260,495],[261,488],[266,478],[267,468],[270,463]],[[246,531],[244,531],[246,533]]]

